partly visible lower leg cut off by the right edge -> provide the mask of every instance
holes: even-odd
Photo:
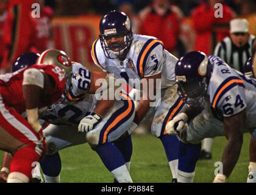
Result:
[[[250,163],[249,163],[249,174],[247,177],[247,183],[256,183],[256,141],[251,136],[250,141]]]

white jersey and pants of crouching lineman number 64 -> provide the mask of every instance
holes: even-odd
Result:
[[[204,99],[205,110],[188,125],[185,141],[196,144],[205,137],[223,136],[222,119],[244,109],[244,132],[250,132],[256,138],[256,79],[236,71],[219,57],[209,55],[208,58],[213,69],[207,88],[208,98]]]

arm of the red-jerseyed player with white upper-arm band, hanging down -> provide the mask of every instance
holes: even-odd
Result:
[[[48,94],[54,87],[54,80],[39,69],[29,68],[24,71],[23,97],[30,126],[39,132],[41,129],[38,120],[38,105],[40,97]]]

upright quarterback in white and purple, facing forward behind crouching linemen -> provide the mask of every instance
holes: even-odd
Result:
[[[177,94],[177,85],[174,85],[177,58],[166,51],[161,40],[133,34],[130,19],[124,12],[108,12],[101,18],[99,30],[101,34],[91,48],[94,63],[104,72],[112,73],[130,87],[142,91],[142,97],[136,98],[138,105],[133,125],[138,126],[154,115],[151,132],[162,141],[172,182],[175,182],[179,140],[176,136],[168,135],[165,127],[185,105]],[[155,94],[154,98],[152,94]],[[138,97],[137,93],[135,96]],[[185,166],[179,169],[187,170]],[[185,177],[182,178],[185,180]]]

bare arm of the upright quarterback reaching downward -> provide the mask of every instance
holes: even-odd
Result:
[[[149,86],[150,79],[153,79],[153,86]],[[135,112],[135,118],[133,122],[137,125],[142,121],[142,119],[146,116],[149,111],[150,103],[156,101],[155,99],[151,99],[152,94],[156,94],[157,91],[157,79],[161,79],[161,73],[155,74],[154,76],[144,77],[142,82],[146,82],[148,84],[143,85],[143,97],[140,100]],[[144,87],[146,86],[146,87]],[[159,87],[159,86],[158,86]]]

